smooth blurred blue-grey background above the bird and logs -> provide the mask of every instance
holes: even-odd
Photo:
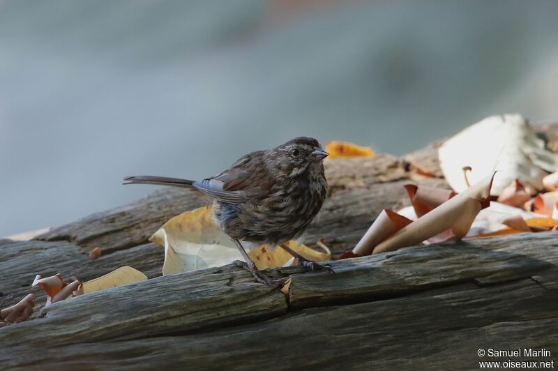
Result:
[[[558,119],[558,1],[1,1],[0,236],[298,135],[402,154]]]

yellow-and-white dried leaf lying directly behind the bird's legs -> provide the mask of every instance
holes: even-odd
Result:
[[[172,218],[150,240],[165,246],[163,275],[222,266],[242,259],[230,237],[216,226],[211,209],[206,207]],[[329,250],[318,252],[296,241],[289,241],[289,244],[293,250],[317,262],[331,258]],[[248,244],[245,246],[247,249],[250,247]],[[269,245],[252,248],[248,255],[260,269],[284,266],[292,259],[282,248]]]

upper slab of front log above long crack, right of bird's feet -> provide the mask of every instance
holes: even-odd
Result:
[[[324,280],[324,274],[293,278],[289,302],[292,308],[305,308],[379,300],[461,282],[489,285],[519,280],[558,263],[558,248],[552,245],[555,241],[558,236],[554,234],[527,234],[514,239],[461,241],[346,259],[335,264],[335,280]]]

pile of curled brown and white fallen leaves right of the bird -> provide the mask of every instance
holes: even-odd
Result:
[[[439,147],[439,162],[454,192],[405,185],[412,206],[382,211],[341,258],[558,229],[558,160],[522,116],[470,126]]]

